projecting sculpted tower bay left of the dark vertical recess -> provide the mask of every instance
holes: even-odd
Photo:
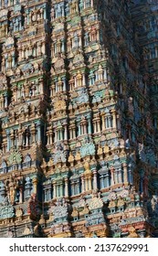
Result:
[[[47,1],[1,1],[1,237],[39,236],[48,90],[47,10]]]

